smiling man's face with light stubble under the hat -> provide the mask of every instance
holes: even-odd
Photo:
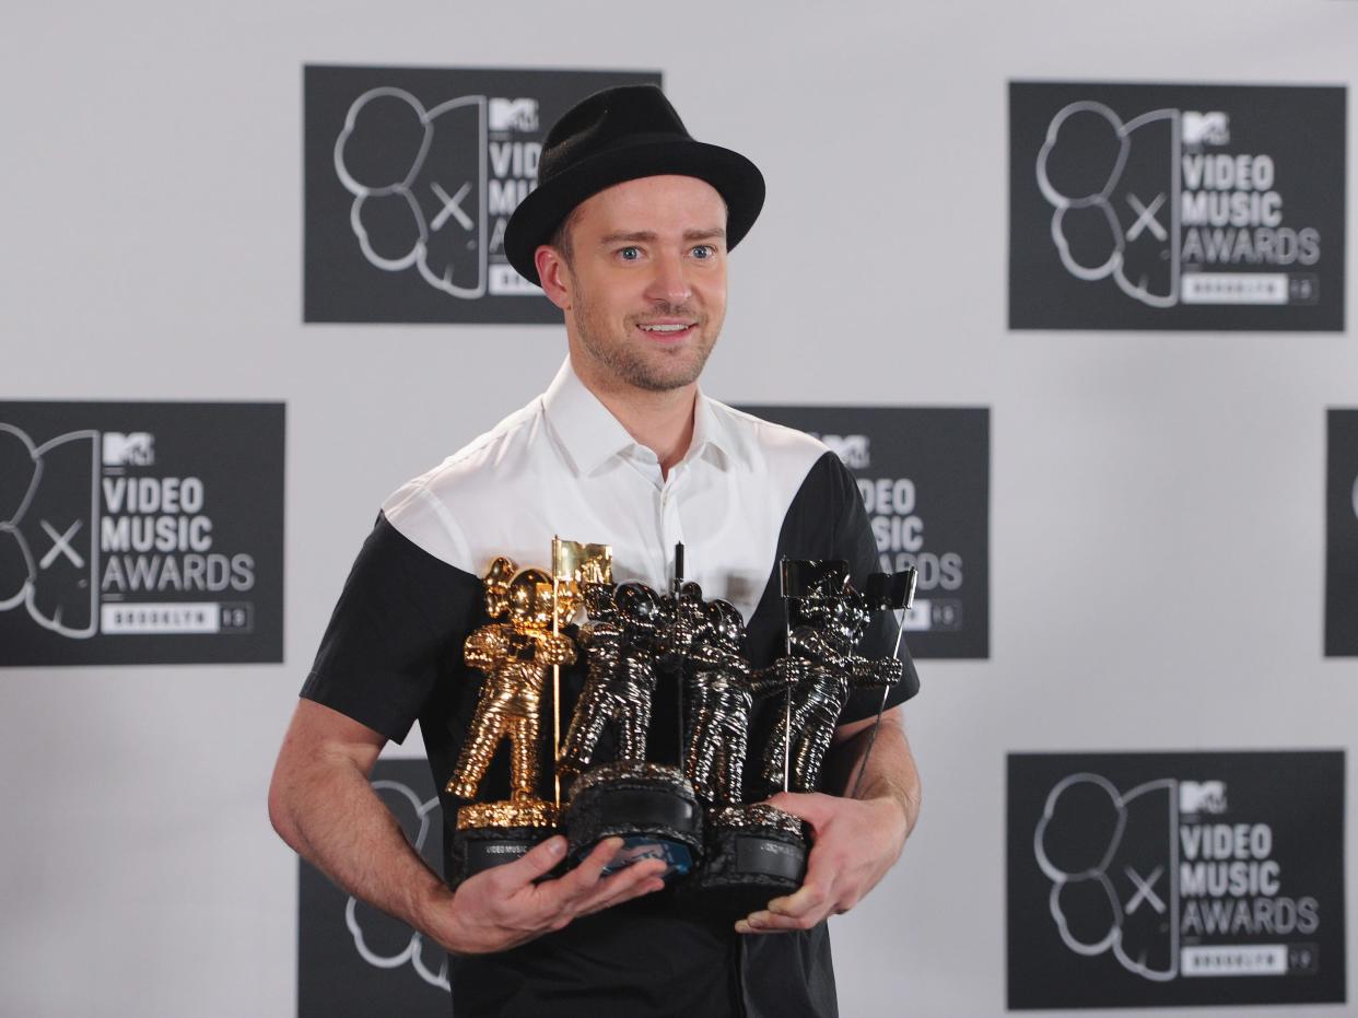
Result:
[[[652,392],[694,383],[727,314],[717,190],[694,176],[626,181],[581,202],[569,242],[557,303],[577,371]]]

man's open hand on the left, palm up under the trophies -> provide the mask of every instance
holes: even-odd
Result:
[[[566,875],[535,884],[566,854],[565,837],[549,837],[521,858],[478,873],[448,899],[432,903],[422,927],[455,954],[500,951],[664,886],[663,859],[646,859],[603,877],[619,848],[621,837],[604,839]]]

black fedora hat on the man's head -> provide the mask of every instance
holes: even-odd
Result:
[[[763,206],[758,167],[739,152],[694,141],[656,86],[595,92],[566,110],[542,143],[538,187],[505,227],[505,257],[535,282],[534,252],[591,194],[638,176],[678,174],[706,181],[727,202],[727,247],[750,232]]]

